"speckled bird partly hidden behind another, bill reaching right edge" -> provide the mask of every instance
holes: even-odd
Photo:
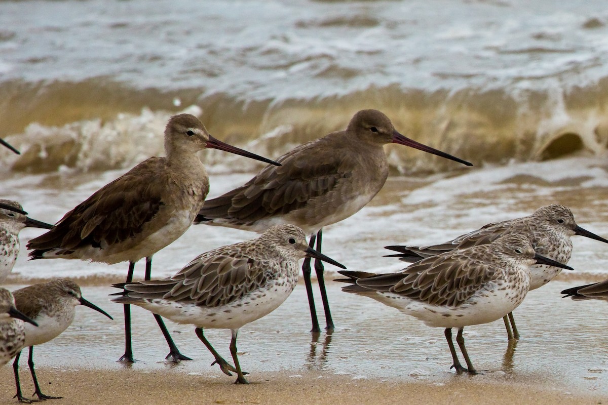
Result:
[[[527,236],[537,253],[564,264],[567,264],[572,257],[572,240],[570,240],[570,237],[574,235],[586,236],[608,243],[608,240],[603,237],[576,225],[570,208],[564,205],[551,204],[536,209],[534,213],[526,217],[488,223],[488,225],[482,226],[476,231],[458,236],[454,240],[439,245],[423,247],[395,245],[385,248],[400,252],[399,254],[388,255],[389,257],[399,257],[400,260],[411,263],[446,251],[483,245],[509,233],[519,233]],[[530,291],[547,284],[560,271],[561,268],[553,266],[534,265],[530,268]],[[505,322],[508,338],[519,339],[513,313],[508,314],[508,319],[505,316],[503,321]],[[509,322],[513,327],[513,333],[511,333]]]

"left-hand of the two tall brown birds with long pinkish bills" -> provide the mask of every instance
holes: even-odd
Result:
[[[145,279],[151,278],[152,255],[178,239],[195,219],[209,192],[209,176],[196,152],[221,149],[273,163],[213,138],[194,115],[170,118],[165,128],[166,157],[151,157],[103,186],[69,211],[46,234],[29,241],[32,259],[129,262],[126,282],[135,263],[146,258]],[[131,310],[125,305],[125,354],[133,362]],[[170,352],[170,361],[189,360],[179,353],[162,319],[155,315]]]

